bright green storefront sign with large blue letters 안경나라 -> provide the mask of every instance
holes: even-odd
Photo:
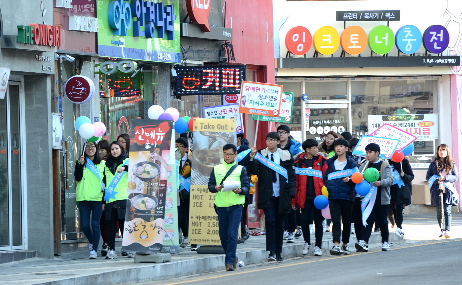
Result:
[[[98,54],[180,63],[179,0],[98,0]]]

